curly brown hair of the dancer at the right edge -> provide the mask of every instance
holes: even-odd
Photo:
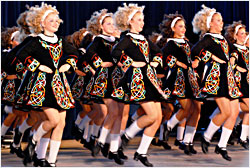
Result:
[[[235,39],[235,28],[238,26],[238,25],[241,25],[242,27],[241,28],[244,28],[246,29],[246,26],[243,25],[241,23],[241,20],[238,21],[238,22],[233,22],[233,24],[230,24],[228,26],[225,27],[225,37],[227,38],[227,40],[229,40],[231,43],[235,43],[236,42],[236,39]]]

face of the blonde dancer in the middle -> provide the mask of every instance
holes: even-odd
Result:
[[[130,21],[131,32],[140,33],[144,26],[144,15],[141,12],[137,12]]]

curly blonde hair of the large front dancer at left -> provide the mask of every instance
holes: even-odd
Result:
[[[28,13],[26,17],[26,22],[28,23],[28,26],[30,27],[31,33],[39,34],[43,31],[41,22],[44,17],[44,14],[48,10],[53,11],[51,13],[59,15],[59,12],[57,11],[55,6],[52,7],[51,5],[48,5],[46,3],[42,3],[41,7],[39,8],[37,8],[37,6],[30,8],[30,12]],[[59,22],[62,23],[63,21],[60,19]]]

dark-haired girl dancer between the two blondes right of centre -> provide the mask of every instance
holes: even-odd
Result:
[[[187,119],[183,144],[185,154],[196,154],[193,149],[193,137],[196,132],[200,115],[200,103],[195,101],[201,98],[200,88],[194,70],[192,69],[191,44],[185,37],[185,20],[180,14],[169,14],[164,17],[164,33],[168,39],[163,47],[164,61],[168,66],[164,91],[171,99],[177,98],[181,109],[175,113],[165,126],[165,138],[177,123]]]

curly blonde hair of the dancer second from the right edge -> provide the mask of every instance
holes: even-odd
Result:
[[[205,34],[209,31],[209,28],[207,27],[207,19],[210,16],[211,13],[217,13],[214,8],[206,7],[204,4],[201,6],[203,9],[201,9],[198,13],[195,14],[192,25],[193,25],[193,32],[198,34],[201,32],[201,35]],[[214,13],[214,14],[215,14]]]

